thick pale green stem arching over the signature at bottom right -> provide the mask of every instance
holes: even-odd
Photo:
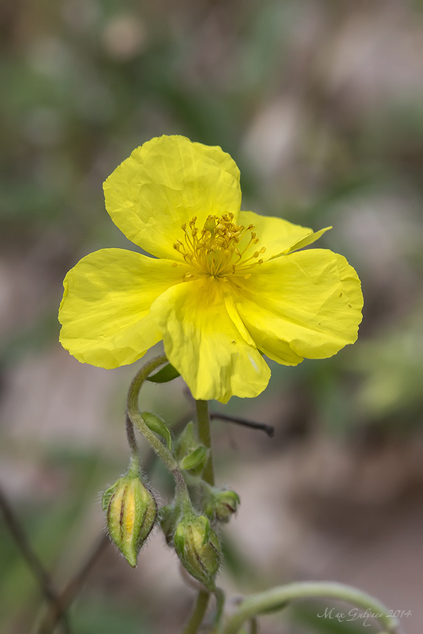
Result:
[[[361,609],[369,610],[377,615],[379,621],[386,628],[386,634],[399,634],[400,624],[398,619],[388,616],[388,609],[384,604],[361,592],[356,588],[350,588],[342,583],[288,583],[278,588],[272,588],[266,592],[258,592],[256,595],[247,597],[239,604],[238,610],[226,620],[221,627],[221,634],[237,634],[243,623],[248,619],[253,619],[258,614],[264,612],[278,611],[287,606],[295,599],[336,599],[355,605]],[[370,615],[369,615],[370,616]],[[373,618],[376,618],[374,616]]]

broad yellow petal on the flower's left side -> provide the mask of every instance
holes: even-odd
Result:
[[[116,368],[161,340],[149,315],[159,294],[182,281],[185,266],[125,249],[95,251],[63,281],[60,341],[82,363]]]

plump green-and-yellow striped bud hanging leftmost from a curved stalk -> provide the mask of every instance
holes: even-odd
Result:
[[[157,503],[139,475],[127,473],[104,492],[107,530],[130,566],[137,565],[140,548],[157,517]]]

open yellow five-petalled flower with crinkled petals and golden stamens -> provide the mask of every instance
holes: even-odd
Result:
[[[104,183],[106,209],[153,257],[100,249],[69,271],[61,343],[116,368],[163,340],[196,399],[255,397],[262,354],[295,366],[357,339],[360,280],[341,255],[302,247],[326,231],[240,211],[240,173],[220,147],[159,137]]]

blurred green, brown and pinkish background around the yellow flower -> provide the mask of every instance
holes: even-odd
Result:
[[[102,182],[147,139],[183,134],[233,156],[243,209],[333,225],[319,245],[355,266],[365,303],[353,347],[272,363],[264,394],[224,408],[273,439],[213,423],[218,483],[242,501],[221,585],[338,580],[411,611],[403,627],[420,634],[423,2],[2,0],[0,49],[0,486],[56,587],[102,535],[98,492],[125,470],[140,366],[61,349],[61,282],[90,251],[135,248]],[[142,399],[169,424],[190,416],[180,379]],[[166,475],[152,479],[165,502]],[[71,632],[171,634],[194,595],[158,532],[135,571],[105,547]],[[1,632],[37,632],[43,606],[0,521]],[[376,631],[321,606],[266,617],[264,633]]]

